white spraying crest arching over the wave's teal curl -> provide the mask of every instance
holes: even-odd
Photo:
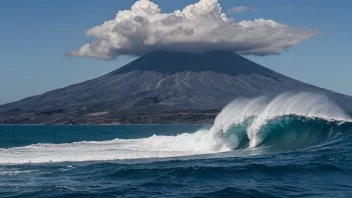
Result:
[[[350,121],[345,112],[326,96],[308,92],[284,93],[272,100],[237,99],[224,108],[215,120],[211,133],[227,132],[229,128],[254,117],[246,128],[251,148],[264,141],[262,128],[269,121],[288,115],[321,118],[326,121]]]

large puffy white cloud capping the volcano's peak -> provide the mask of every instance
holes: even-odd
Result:
[[[217,0],[200,0],[173,13],[161,13],[150,0],[139,0],[131,10],[86,31],[92,43],[69,56],[113,60],[120,55],[144,55],[153,51],[231,50],[243,55],[280,54],[320,34],[273,20],[235,22],[227,18]]]

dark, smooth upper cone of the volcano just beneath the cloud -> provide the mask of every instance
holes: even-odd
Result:
[[[153,52],[116,70],[113,74],[131,71],[155,71],[164,74],[175,74],[184,71],[228,74],[257,74],[275,77],[275,73],[242,56],[230,51],[211,51],[204,53],[186,52]]]

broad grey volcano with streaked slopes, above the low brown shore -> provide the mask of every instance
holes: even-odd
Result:
[[[153,52],[104,76],[2,105],[0,112],[119,115],[209,110],[221,109],[236,97],[287,91],[323,93],[352,110],[352,97],[294,80],[233,52],[211,51]]]

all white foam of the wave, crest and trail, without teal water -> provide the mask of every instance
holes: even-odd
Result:
[[[283,115],[348,120],[348,116],[327,97],[311,93],[285,93],[273,100],[266,97],[237,99],[218,115],[212,128],[176,136],[151,136],[141,139],[115,139],[100,142],[35,144],[0,149],[0,164],[48,163],[167,158],[225,152],[240,144],[237,134],[223,137],[232,126],[253,117],[247,127],[250,147],[262,141],[260,128],[268,120]]]

